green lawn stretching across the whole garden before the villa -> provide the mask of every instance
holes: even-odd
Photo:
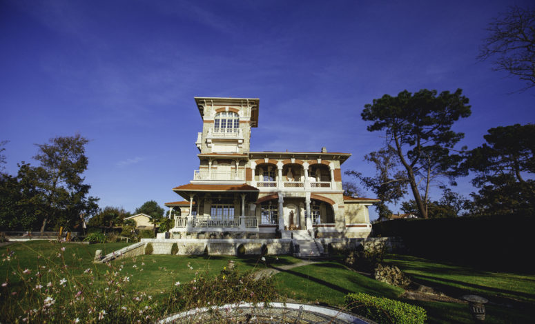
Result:
[[[75,276],[82,276],[90,268],[104,273],[108,265],[93,263],[96,250],[104,253],[124,247],[127,243],[80,245],[48,241],[14,243],[0,247],[4,261],[0,264],[0,281],[9,278],[17,283],[12,267],[37,269],[39,265],[65,262]],[[65,248],[62,251],[62,248]],[[17,259],[6,261],[6,252],[12,250]],[[61,253],[60,256],[58,254]],[[262,270],[300,262],[291,256],[166,256],[150,255],[124,258],[111,263],[111,270],[130,277],[130,290],[164,296],[176,281],[192,281],[195,276],[219,273],[233,260],[240,270]],[[414,256],[389,255],[387,262],[398,265],[418,283],[429,285],[449,296],[478,294],[489,299],[485,323],[532,323],[535,309],[535,275],[506,272],[486,272],[462,265],[442,263]],[[34,272],[35,273],[35,272]],[[322,303],[333,307],[343,305],[349,292],[364,292],[420,305],[427,310],[429,323],[473,323],[468,307],[459,303],[408,301],[400,297],[403,290],[375,281],[368,276],[348,270],[338,259],[282,270],[275,275],[277,290],[282,296],[307,303]],[[105,285],[104,281],[97,285]]]

